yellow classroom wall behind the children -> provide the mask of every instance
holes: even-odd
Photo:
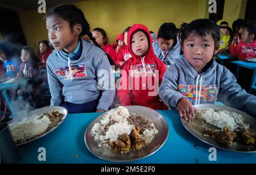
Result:
[[[224,18],[233,22],[244,16],[242,8],[246,0],[226,0]],[[134,23],[142,23],[157,34],[164,22],[173,22],[179,26],[181,22],[191,22],[197,18],[209,18],[208,0],[93,0],[74,3],[82,9],[91,30],[104,28],[109,43],[114,43],[119,33]],[[245,9],[245,8],[244,8]],[[49,9],[47,9],[48,11]],[[38,41],[48,39],[45,14],[34,11],[18,11],[27,44],[38,51]]]

